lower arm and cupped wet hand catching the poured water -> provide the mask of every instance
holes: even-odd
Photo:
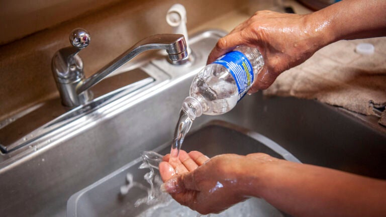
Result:
[[[293,216],[386,216],[384,180],[262,153],[209,159],[200,152],[181,151],[179,159],[179,174],[174,176],[168,156],[160,163],[165,182],[161,188],[202,214],[220,212],[254,196]]]

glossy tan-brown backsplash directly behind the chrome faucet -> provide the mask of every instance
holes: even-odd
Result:
[[[4,6],[6,1],[0,1]],[[188,30],[245,7],[247,4],[247,0],[224,0],[221,2],[216,0],[131,0],[121,2],[110,0],[106,3],[113,4],[105,6],[99,11],[87,12],[87,10],[92,10],[92,7],[78,10],[76,7],[73,8],[77,6],[74,3],[82,2],[84,4],[84,2],[91,2],[91,0],[42,0],[35,2],[39,4],[32,6],[25,3],[26,5],[22,7],[14,5],[15,3],[7,3],[6,9],[0,7],[2,12],[8,13],[8,15],[2,16],[10,16],[7,17],[7,25],[32,26],[31,29],[23,33],[28,34],[67,18],[74,16],[76,18],[0,46],[0,82],[2,82],[0,85],[0,120],[23,110],[28,105],[58,94],[51,74],[51,58],[58,49],[69,46],[68,35],[74,28],[85,28],[91,34],[90,45],[80,52],[85,65],[86,76],[89,76],[138,40],[157,33],[171,32],[171,28],[165,21],[165,14],[174,3],[181,3],[185,6]],[[50,4],[43,7],[45,2],[50,2]],[[98,1],[95,0],[94,2]],[[98,7],[103,5],[103,1],[100,2]],[[65,3],[72,3],[72,8],[64,7]],[[16,19],[11,22],[10,19],[16,16],[11,13],[12,11],[20,12],[21,20]],[[3,14],[2,12],[0,14]],[[82,13],[85,14],[79,15]],[[3,18],[2,25],[2,28],[6,26]],[[8,26],[8,28],[10,27]],[[16,27],[12,28],[15,29]],[[5,35],[3,40],[14,38],[16,30],[14,32],[10,30],[9,33],[3,31],[2,35]],[[19,34],[20,36],[22,34]]]

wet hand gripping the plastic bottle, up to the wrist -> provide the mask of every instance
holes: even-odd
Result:
[[[208,64],[218,57],[245,45],[258,48],[264,57],[264,67],[252,84],[250,93],[268,88],[283,71],[295,67],[329,43],[308,23],[317,25],[307,15],[259,11],[221,38],[208,57]]]

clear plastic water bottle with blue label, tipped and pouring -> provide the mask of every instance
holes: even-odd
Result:
[[[229,112],[248,92],[263,65],[257,48],[241,46],[219,57],[196,75],[190,96],[182,103],[182,111],[191,120],[202,114]]]

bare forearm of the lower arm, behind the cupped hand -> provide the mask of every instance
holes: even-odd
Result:
[[[386,216],[386,182],[279,160],[249,191],[294,216]]]

